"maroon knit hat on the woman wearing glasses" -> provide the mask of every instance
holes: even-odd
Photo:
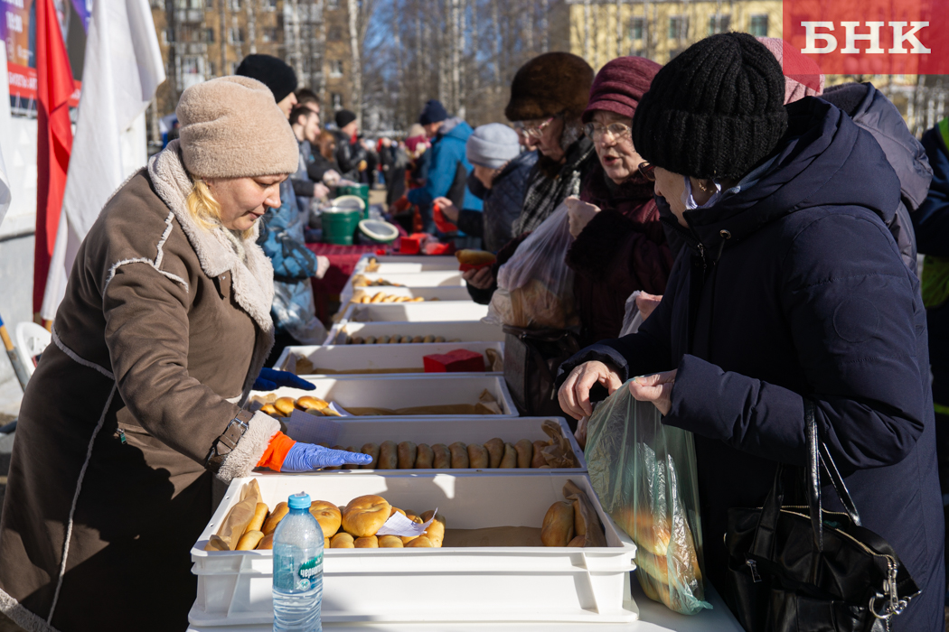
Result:
[[[584,110],[588,123],[597,110],[613,112],[621,117],[633,117],[640,99],[649,90],[649,84],[662,66],[644,57],[618,57],[604,67],[590,86],[590,100]]]

